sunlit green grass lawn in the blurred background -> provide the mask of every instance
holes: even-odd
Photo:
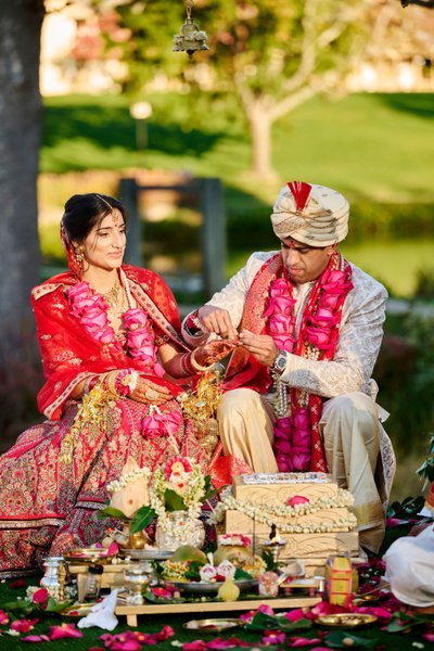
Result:
[[[124,97],[47,98],[41,171],[188,169],[272,200],[273,184],[248,177],[250,140],[233,100],[214,99],[206,111],[204,95],[146,99],[149,148],[138,152]],[[433,115],[431,94],[315,98],[275,125],[273,165],[283,180],[330,184],[350,199],[433,203]]]

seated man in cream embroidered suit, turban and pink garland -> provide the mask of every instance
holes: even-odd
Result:
[[[240,344],[218,410],[225,454],[255,472],[330,472],[355,498],[360,544],[378,551],[394,473],[371,380],[387,293],[341,255],[348,215],[335,190],[286,183],[271,215],[280,251],[254,253],[183,335]]]

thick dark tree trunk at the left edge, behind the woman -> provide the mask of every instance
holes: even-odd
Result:
[[[39,281],[37,174],[43,0],[0,7],[0,370],[28,349],[29,292]]]

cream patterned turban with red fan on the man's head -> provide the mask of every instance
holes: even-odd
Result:
[[[271,214],[280,240],[294,238],[309,246],[329,246],[348,232],[349,204],[336,190],[314,183],[284,186]]]

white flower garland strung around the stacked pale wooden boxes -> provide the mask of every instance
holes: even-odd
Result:
[[[261,524],[271,526],[276,524],[275,519],[292,519],[299,515],[308,515],[323,509],[334,509],[341,507],[350,507],[354,505],[354,498],[348,490],[337,489],[336,497],[320,497],[301,505],[290,506],[270,506],[266,503],[254,505],[252,502],[237,499],[232,495],[232,489],[227,488],[220,496],[220,503],[217,505],[210,515],[212,522],[221,522],[225,512],[229,510],[241,511],[252,520]],[[275,519],[273,519],[275,516]],[[348,513],[346,518],[340,518],[335,522],[323,522],[320,524],[285,524],[279,523],[279,532],[284,534],[328,534],[334,532],[350,531],[357,526],[357,518]]]

